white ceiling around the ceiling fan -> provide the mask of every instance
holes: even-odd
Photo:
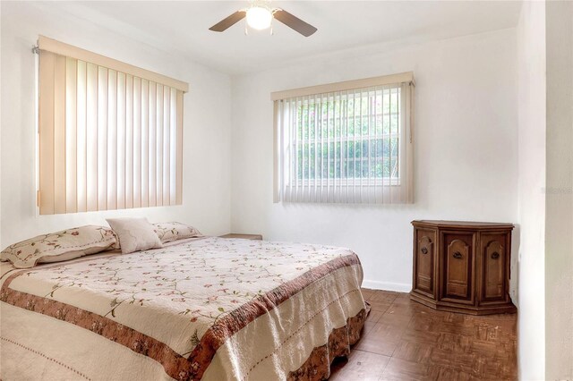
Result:
[[[318,28],[309,38],[274,22],[244,35],[244,21],[222,33],[210,26],[247,1],[50,3],[108,30],[176,51],[231,74],[254,72],[308,55],[395,41],[420,43],[515,27],[519,1],[273,1]],[[352,50],[350,50],[352,51]]]

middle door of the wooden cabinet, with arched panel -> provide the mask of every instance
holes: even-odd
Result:
[[[473,263],[475,233],[443,232],[441,300],[474,304]]]

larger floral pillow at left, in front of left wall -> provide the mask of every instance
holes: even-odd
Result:
[[[14,243],[2,250],[0,258],[16,268],[30,268],[42,262],[59,262],[117,248],[119,243],[111,229],[86,225]]]

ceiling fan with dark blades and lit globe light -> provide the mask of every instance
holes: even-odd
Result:
[[[269,1],[253,1],[248,8],[231,14],[226,19],[223,19],[210,27],[209,30],[222,32],[235,25],[236,22],[243,20],[245,17],[247,19],[247,25],[254,30],[266,30],[267,28],[270,28],[273,19],[276,19],[287,27],[296,30],[304,37],[311,36],[317,30],[311,24],[302,21],[295,15],[286,12],[284,9],[271,8],[269,3]]]

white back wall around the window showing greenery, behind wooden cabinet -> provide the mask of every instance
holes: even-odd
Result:
[[[372,55],[338,52],[233,79],[232,229],[346,246],[364,285],[410,291],[413,219],[517,220],[515,30]],[[415,72],[415,204],[273,204],[269,93]]]

